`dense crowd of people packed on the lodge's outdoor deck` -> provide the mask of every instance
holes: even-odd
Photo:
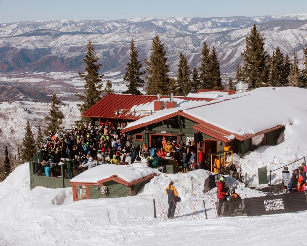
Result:
[[[209,169],[210,151],[205,155],[202,150],[197,150],[193,141],[183,143],[171,137],[163,137],[161,142],[157,142],[160,143],[158,148],[148,147],[146,143],[136,146],[133,145],[130,134],[121,129],[120,124],[115,127],[108,123],[100,126],[90,123],[71,130],[50,132],[40,150],[43,160],[41,172],[54,177],[57,176],[59,166],[65,164],[65,171],[71,179],[99,164],[129,165],[135,161],[149,164],[149,160],[156,156],[176,160],[177,166],[186,171]]]

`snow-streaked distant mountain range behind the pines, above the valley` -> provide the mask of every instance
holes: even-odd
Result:
[[[223,76],[234,74],[242,62],[245,36],[256,23],[266,50],[279,46],[303,59],[307,43],[307,13],[225,18],[139,18],[112,21],[46,20],[0,24],[0,74],[83,71],[88,40],[94,43],[102,72],[125,73],[129,45],[134,39],[141,61],[150,55],[154,36],[164,42],[171,76],[176,76],[180,51],[190,68],[198,67],[204,40],[214,46]]]

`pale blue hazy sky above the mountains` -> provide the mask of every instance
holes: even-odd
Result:
[[[306,12],[307,0],[0,0],[0,23],[262,16]]]

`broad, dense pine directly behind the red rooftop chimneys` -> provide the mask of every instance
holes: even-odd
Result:
[[[145,78],[147,80],[146,93],[148,95],[169,94],[169,67],[166,64],[167,57],[164,50],[164,43],[158,36],[153,39],[152,53],[149,60],[144,60],[147,64]]]

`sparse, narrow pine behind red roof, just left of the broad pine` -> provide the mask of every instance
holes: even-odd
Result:
[[[141,72],[142,63],[138,60],[138,54],[133,39],[130,43],[130,58],[126,67],[126,74],[124,76],[124,81],[126,82],[126,86],[128,90],[126,90],[126,94],[133,95],[141,95],[142,93],[138,90],[138,88],[144,85],[144,80],[140,78],[145,72]]]

